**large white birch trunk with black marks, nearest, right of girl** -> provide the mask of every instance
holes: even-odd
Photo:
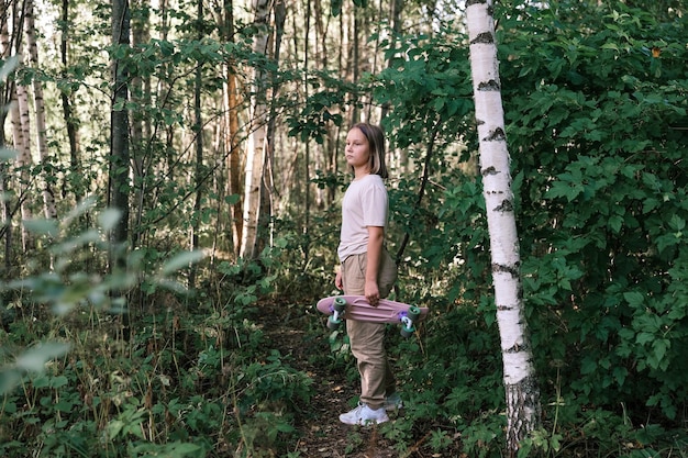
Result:
[[[499,81],[492,0],[468,0],[470,70],[480,143],[497,323],[507,394],[507,454],[540,422],[540,392],[523,313],[519,239]]]

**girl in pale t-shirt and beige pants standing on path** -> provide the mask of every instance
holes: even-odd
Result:
[[[384,246],[388,203],[381,129],[354,125],[346,136],[345,155],[354,180],[342,201],[341,269],[335,286],[345,294],[365,295],[376,306],[397,279],[397,267]],[[340,420],[349,425],[386,422],[386,411],[400,407],[401,400],[385,351],[385,324],[347,320],[346,332],[360,373],[360,400]]]

